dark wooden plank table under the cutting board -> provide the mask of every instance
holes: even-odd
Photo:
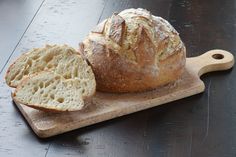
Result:
[[[45,43],[77,47],[114,11],[142,7],[178,30],[187,56],[236,54],[235,0],[0,0],[0,156],[236,156],[236,71],[204,75],[206,91],[163,106],[39,139],[4,82],[9,64]]]

